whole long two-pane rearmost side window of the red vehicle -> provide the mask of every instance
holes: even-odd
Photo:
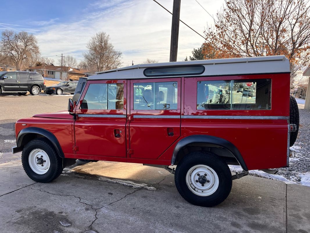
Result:
[[[197,110],[269,110],[271,79],[197,82]]]

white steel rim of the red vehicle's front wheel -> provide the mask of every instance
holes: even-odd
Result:
[[[38,164],[38,161],[40,164]],[[47,153],[42,149],[32,150],[29,154],[28,162],[32,171],[39,175],[47,173],[51,166],[50,157],[48,157]]]

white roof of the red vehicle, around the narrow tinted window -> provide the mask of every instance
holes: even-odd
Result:
[[[205,71],[200,75],[167,75],[147,77],[144,75],[146,68],[165,66],[202,65]],[[240,57],[226,59],[210,59],[186,62],[163,62],[151,64],[139,64],[126,66],[118,69],[100,71],[92,75],[88,80],[104,79],[150,79],[166,77],[188,77],[188,76],[216,76],[216,75],[241,75],[241,74],[264,74],[290,72],[289,60],[284,56],[266,57]]]

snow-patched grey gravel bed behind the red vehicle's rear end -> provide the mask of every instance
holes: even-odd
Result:
[[[299,107],[299,120],[297,140],[290,147],[290,150],[293,151],[293,156],[290,158],[290,166],[274,169],[278,170],[275,175],[259,170],[251,170],[249,175],[310,187],[310,111]],[[240,166],[229,165],[229,168],[232,172],[242,171]]]

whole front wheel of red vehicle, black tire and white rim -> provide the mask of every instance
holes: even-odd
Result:
[[[47,139],[33,139],[21,155],[22,164],[30,179],[47,183],[55,180],[63,171],[62,159]]]

